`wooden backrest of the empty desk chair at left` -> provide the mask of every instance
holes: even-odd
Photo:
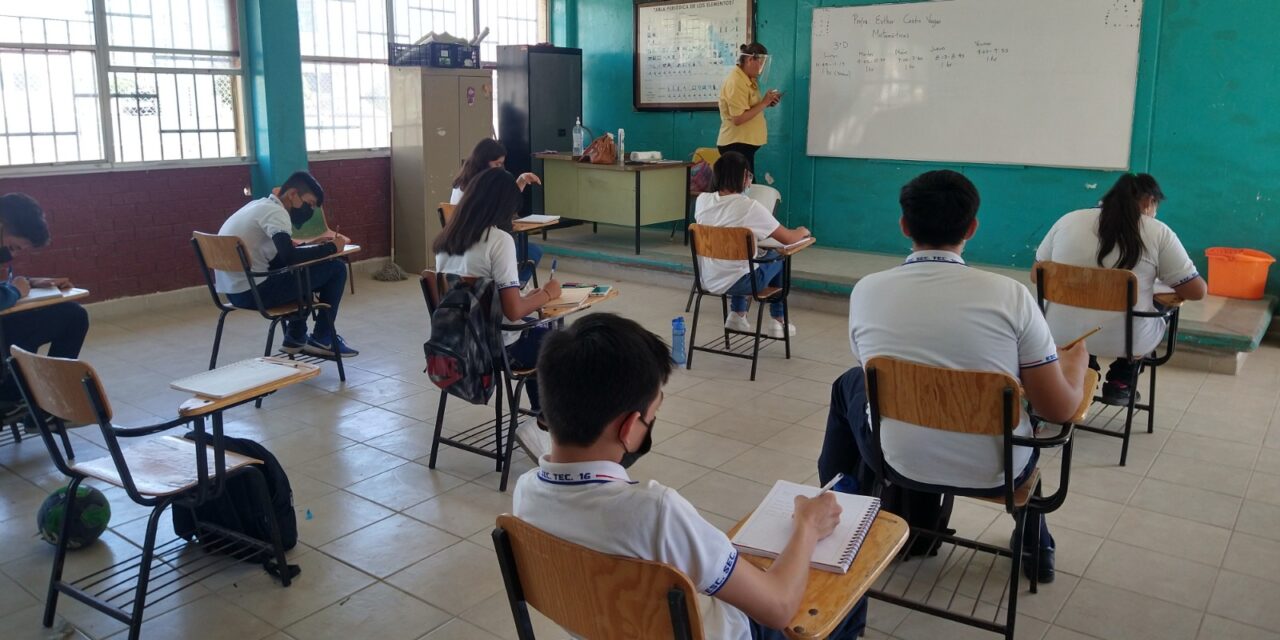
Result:
[[[96,389],[102,402],[104,419],[111,420],[111,403],[106,399],[97,372],[88,362],[81,360],[51,358],[23,349],[9,347],[13,364],[26,383],[31,402],[54,417],[70,426],[97,425],[97,408],[90,397],[86,384]]]

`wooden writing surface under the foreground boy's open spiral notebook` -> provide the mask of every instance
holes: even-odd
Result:
[[[737,525],[733,525],[728,536],[733,538],[733,534],[750,517],[748,515]],[[876,516],[876,522],[867,532],[867,540],[858,549],[858,556],[854,557],[854,563],[849,567],[847,573],[810,568],[809,582],[804,588],[804,599],[800,600],[800,611],[783,630],[787,637],[792,640],[827,637],[849,616],[849,612],[854,611],[858,600],[867,595],[872,584],[893,562],[897,552],[906,544],[909,534],[910,527],[905,520],[882,509]],[[742,553],[741,557],[763,570],[768,570],[773,564],[772,558],[746,553]]]

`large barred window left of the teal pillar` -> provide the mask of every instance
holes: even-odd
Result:
[[[232,3],[5,3],[0,166],[244,156]]]

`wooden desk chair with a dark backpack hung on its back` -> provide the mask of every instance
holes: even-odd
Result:
[[[430,269],[424,270],[421,285],[422,298],[426,301],[428,314],[435,314],[435,310],[440,305],[440,300],[457,283],[475,284],[476,280],[476,278],[442,274]],[[494,288],[493,283],[480,292],[480,303],[486,306],[500,306],[500,302],[498,301],[498,291]],[[500,308],[497,314],[499,317],[502,316]],[[502,332],[521,330],[522,328],[525,328],[525,325],[508,324],[500,324],[490,328],[493,333],[489,335],[489,339],[492,340],[492,344],[494,344],[495,351],[493,372],[494,376],[502,381],[498,393],[494,394],[497,401],[494,402],[493,420],[486,420],[453,435],[442,435],[444,431],[444,410],[445,403],[449,399],[449,392],[440,389],[440,403],[435,410],[435,431],[431,435],[431,454],[428,458],[428,468],[435,468],[435,460],[439,454],[440,445],[445,444],[462,451],[468,451],[477,456],[493,458],[495,462],[495,471],[502,471],[502,480],[498,484],[498,490],[507,490],[507,479],[511,476],[511,457],[515,451],[516,428],[520,425],[520,416],[532,416],[531,412],[520,408],[520,397],[521,393],[524,393],[525,384],[538,371],[535,369],[513,370],[511,367],[511,360],[507,358],[507,349],[502,343]],[[506,433],[503,433],[503,422],[507,424]]]

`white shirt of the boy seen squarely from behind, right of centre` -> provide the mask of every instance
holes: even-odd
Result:
[[[849,335],[859,365],[876,356],[948,369],[996,371],[1057,360],[1048,325],[1027,287],[970,269],[947,251],[916,251],[900,266],[868,275],[849,297]],[[1014,430],[1032,435],[1027,412]],[[884,460],[920,483],[989,489],[1005,481],[1004,436],[961,434],[882,420]],[[1032,449],[1014,447],[1014,472]]]

